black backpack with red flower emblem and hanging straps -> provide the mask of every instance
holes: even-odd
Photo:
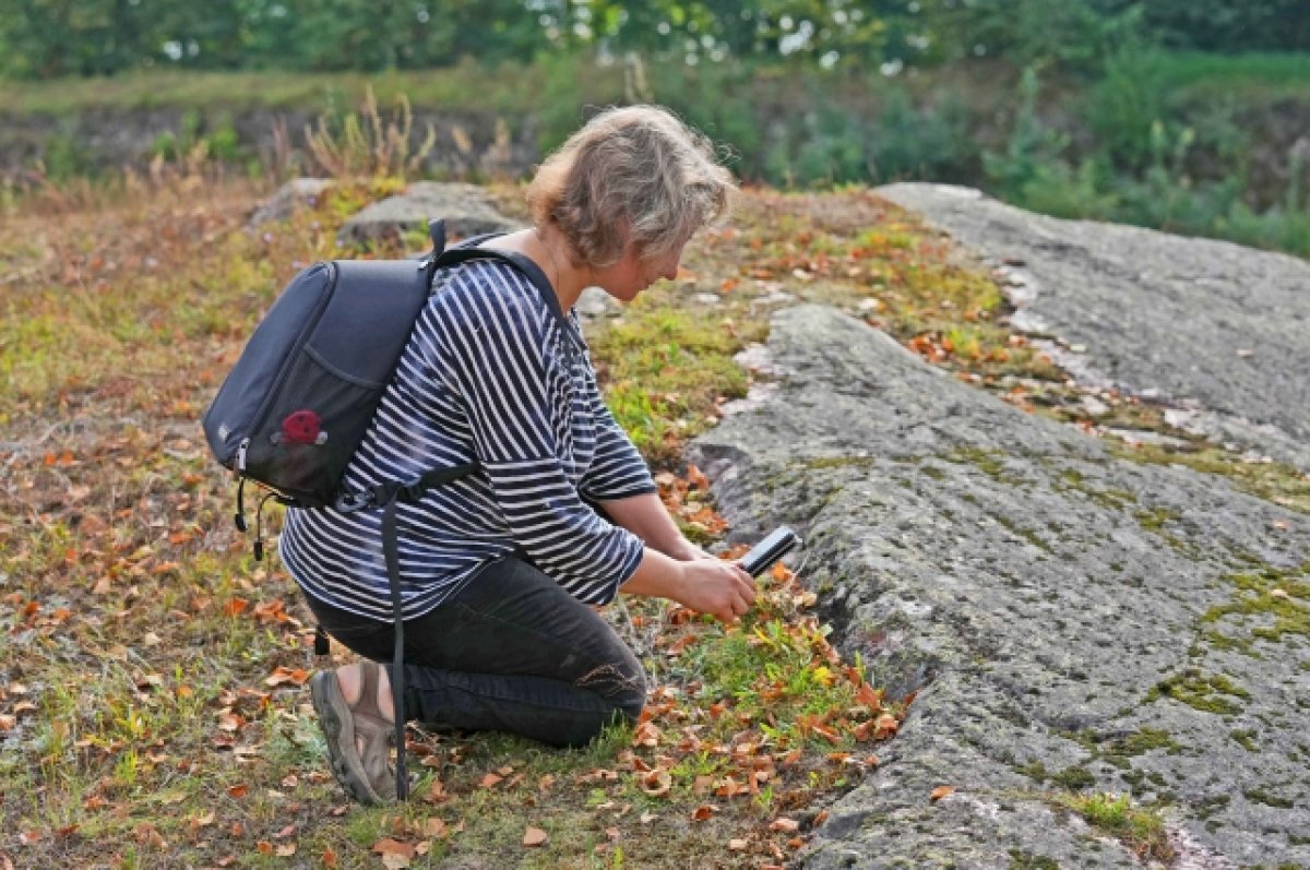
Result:
[[[309,266],[286,286],[255,328],[236,366],[204,413],[210,449],[237,476],[236,525],[246,531],[246,481],[266,490],[255,510],[254,556],[263,557],[263,504],[272,498],[299,508],[384,508],[383,549],[396,616],[397,797],[405,774],[405,681],[401,668],[400,559],[396,503],[477,470],[476,464],[432,469],[413,481],[376,481],[362,491],[342,476],[377,411],[436,270],[469,259],[499,259],[523,271],[559,314],[541,269],[521,254],[474,248],[495,233],[445,248],[445,224],[428,223],[432,252],[422,259],[335,259]],[[320,633],[316,650],[326,651]]]

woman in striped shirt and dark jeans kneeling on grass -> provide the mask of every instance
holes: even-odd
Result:
[[[731,176],[667,111],[596,115],[540,168],[533,227],[483,246],[531,258],[438,273],[394,381],[346,472],[351,487],[479,470],[398,507],[405,705],[432,727],[580,746],[646,700],[641,664],[588,605],[655,595],[731,621],[755,584],[686,541],[596,387],[572,312],[584,287],[621,301],[677,274],[722,215]],[[367,337],[360,337],[367,341]],[[599,510],[596,510],[599,507]],[[282,557],[359,664],[314,676],[333,773],[358,801],[393,791],[393,617],[381,511],[288,511]]]

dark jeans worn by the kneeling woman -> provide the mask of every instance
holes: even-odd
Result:
[[[305,596],[330,635],[390,662],[379,622]],[[613,629],[534,566],[491,562],[455,597],[405,622],[406,718],[582,746],[646,702],[642,667]]]

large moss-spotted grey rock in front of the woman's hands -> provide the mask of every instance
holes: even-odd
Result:
[[[1163,802],[1179,866],[1310,866],[1310,518],[1114,459],[827,308],[779,312],[768,351],[772,393],[693,459],[743,536],[804,531],[838,646],[918,690],[804,866],[1144,866],[1055,808],[1070,789]]]

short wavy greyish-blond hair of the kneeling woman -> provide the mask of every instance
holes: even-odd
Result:
[[[681,250],[728,207],[735,185],[702,134],[656,106],[608,109],[550,155],[528,186],[532,220],[553,224],[582,265]]]

